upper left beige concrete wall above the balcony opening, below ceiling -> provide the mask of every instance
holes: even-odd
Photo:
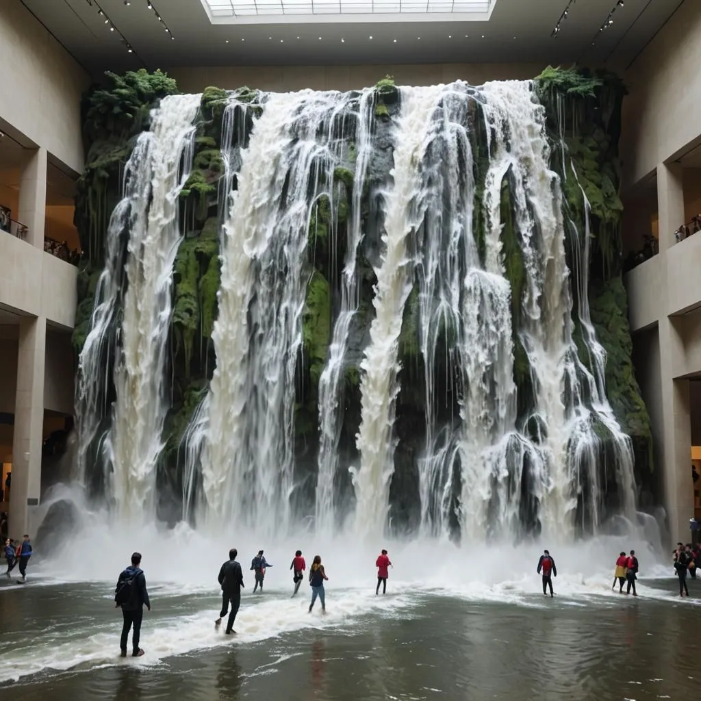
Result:
[[[83,170],[81,95],[90,76],[15,0],[0,3],[0,66],[0,119]]]

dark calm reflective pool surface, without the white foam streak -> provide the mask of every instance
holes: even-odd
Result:
[[[701,596],[701,585],[691,584]],[[674,581],[658,587],[671,594]],[[275,597],[265,605],[289,601]],[[170,608],[161,600],[160,618],[147,618],[144,629],[167,634],[164,626],[188,601],[189,613],[206,618],[214,634],[209,602],[182,595]],[[104,629],[115,655],[0,686],[0,700],[691,701],[700,691],[699,608],[671,597],[561,594],[516,606],[417,594],[411,606],[360,612],[336,627],[312,618],[306,629],[268,639],[222,637],[160,661],[148,660],[147,650],[138,662],[116,658],[118,625],[109,606],[100,587],[88,585],[0,590],[2,671],[32,646],[53,645],[56,635],[97,639]]]

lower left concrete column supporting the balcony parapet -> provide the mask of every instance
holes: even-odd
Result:
[[[29,509],[39,505],[45,358],[46,319],[22,319],[9,507],[10,530],[14,536],[27,531]]]

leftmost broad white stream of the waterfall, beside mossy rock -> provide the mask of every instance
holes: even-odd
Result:
[[[192,165],[199,95],[164,97],[151,115],[135,198],[130,202],[127,289],[115,364],[111,449],[120,515],[154,515],[156,463],[163,448],[165,358],[172,266],[181,239],[178,196]]]

